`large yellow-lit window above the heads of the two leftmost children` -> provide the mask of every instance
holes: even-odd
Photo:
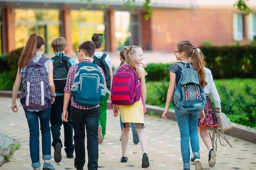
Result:
[[[15,9],[15,48],[24,47],[31,33],[45,41],[45,53],[53,53],[52,40],[60,36],[60,12],[46,9]]]

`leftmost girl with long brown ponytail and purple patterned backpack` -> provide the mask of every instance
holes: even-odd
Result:
[[[55,170],[54,166],[49,162],[52,159],[51,156],[51,129],[49,126],[50,121],[50,105],[55,100],[55,86],[53,81],[53,64],[52,61],[43,57],[45,48],[45,42],[42,37],[32,33],[29,36],[25,48],[22,50],[20,59],[18,61],[18,72],[12,89],[12,105],[13,112],[18,112],[18,106],[16,104],[16,98],[20,83],[22,82],[21,91],[21,104],[25,110],[29,126],[29,151],[34,170],[39,170],[39,121],[40,130],[42,134],[42,150],[43,150],[43,170]],[[37,66],[36,66],[37,65]],[[33,66],[39,69],[32,68]],[[31,69],[30,69],[31,68]],[[46,77],[40,77],[33,71],[40,70],[40,73],[46,73]],[[34,77],[33,77],[34,76]],[[22,81],[23,79],[23,81]],[[44,87],[40,91],[36,91],[39,88],[33,88],[36,81],[45,79],[45,82],[40,81],[39,86]],[[28,85],[27,85],[28,84]],[[27,85],[27,86],[26,86]],[[27,89],[24,89],[27,87]],[[48,96],[45,97],[44,96]],[[25,96],[23,99],[22,96]],[[34,99],[39,97],[37,99]],[[23,104],[24,100],[24,104]],[[33,103],[39,101],[38,103]],[[32,104],[33,103],[33,104]],[[38,104],[38,106],[36,106]]]

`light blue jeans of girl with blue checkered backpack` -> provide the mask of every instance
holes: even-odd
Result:
[[[174,108],[177,119],[177,124],[180,128],[180,148],[183,161],[183,168],[190,168],[190,145],[193,152],[193,156],[200,157],[200,144],[198,137],[198,117],[199,112],[181,114]]]

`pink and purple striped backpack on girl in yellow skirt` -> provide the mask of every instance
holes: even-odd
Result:
[[[146,110],[144,99],[141,93],[141,84],[136,71],[128,65],[122,65],[113,76],[111,89],[111,104],[131,105],[141,98],[144,109]]]

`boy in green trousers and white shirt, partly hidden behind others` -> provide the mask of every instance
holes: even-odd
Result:
[[[96,50],[94,53],[94,57],[92,58],[92,62],[97,64],[103,69],[107,88],[110,90],[112,86],[113,79],[113,64],[111,62],[111,58],[109,55],[103,53],[101,50],[104,48],[104,34],[94,33],[92,34],[92,42],[96,46]],[[103,139],[106,135],[106,123],[107,123],[107,102],[108,102],[108,94],[101,100],[99,104],[100,116],[99,116],[99,144],[103,142]]]

